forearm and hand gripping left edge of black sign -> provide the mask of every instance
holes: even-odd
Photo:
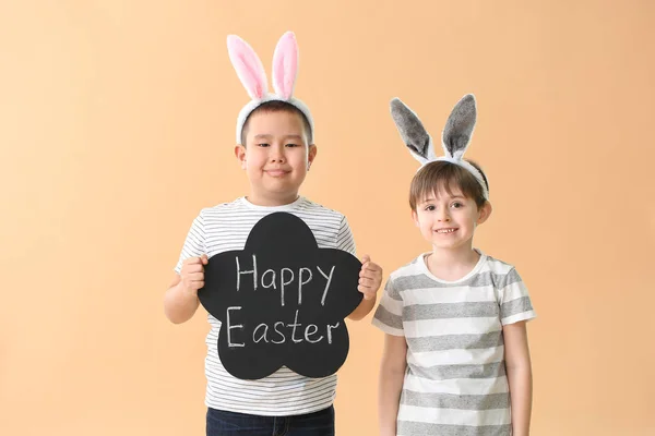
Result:
[[[198,306],[198,290],[204,286],[204,265],[207,256],[190,257],[182,264],[179,275],[175,275],[170,288],[164,295],[164,313],[171,323],[189,320]]]

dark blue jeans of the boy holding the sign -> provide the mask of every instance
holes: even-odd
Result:
[[[334,436],[334,407],[305,415],[260,416],[207,409],[206,436]]]

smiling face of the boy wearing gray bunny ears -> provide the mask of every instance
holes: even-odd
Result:
[[[466,198],[458,190],[452,195],[439,190],[418,202],[412,216],[424,238],[433,249],[471,250],[476,226],[491,214],[487,202],[478,208],[475,201]]]

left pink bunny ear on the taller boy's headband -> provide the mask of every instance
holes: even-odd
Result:
[[[267,93],[266,73],[262,61],[252,47],[236,35],[227,37],[227,51],[239,80],[252,99],[261,99]]]

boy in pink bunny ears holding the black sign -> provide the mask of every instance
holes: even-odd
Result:
[[[203,208],[193,220],[164,299],[166,316],[176,324],[190,319],[199,306],[198,290],[204,286],[207,258],[242,250],[253,226],[271,213],[286,211],[302,219],[320,249],[355,252],[346,218],[298,194],[317,156],[317,146],[309,108],[294,97],[298,68],[294,34],[284,34],[275,48],[274,93],[267,92],[266,73],[246,41],[230,35],[227,47],[251,98],[239,112],[235,147],[237,160],[250,181],[250,193],[231,203]],[[361,262],[358,289],[365,298],[348,316],[356,320],[373,308],[382,281],[378,265],[368,256]],[[207,318],[207,436],[334,435],[336,375],[308,378],[283,366],[258,380],[233,377],[218,359],[221,323],[212,315]]]

